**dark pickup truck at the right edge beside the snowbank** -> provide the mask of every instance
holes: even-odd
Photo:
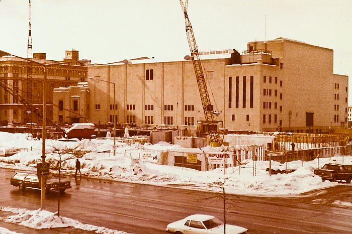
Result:
[[[352,178],[352,165],[328,163],[321,169],[315,169],[314,174],[320,176],[322,181],[330,180],[336,182],[337,180],[345,180],[347,183],[350,183]]]

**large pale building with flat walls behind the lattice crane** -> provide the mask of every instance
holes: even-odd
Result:
[[[326,133],[347,127],[348,76],[333,73],[331,49],[277,38],[248,42],[240,53],[200,55],[221,128]],[[190,56],[126,59],[89,66],[87,73],[87,83],[54,89],[57,123],[83,122],[82,116],[109,123],[115,114],[121,124],[196,129],[204,120]]]

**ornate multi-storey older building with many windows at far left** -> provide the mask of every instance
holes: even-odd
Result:
[[[51,64],[61,61],[46,59],[45,53],[34,53],[33,60],[39,63]],[[78,51],[72,49],[65,51],[65,58],[62,61],[78,60]],[[21,102],[21,98],[28,99],[37,108],[43,107],[43,66],[33,63],[32,82],[28,78],[29,63],[23,59],[13,56],[0,58],[0,124],[12,123],[38,123],[41,125],[42,118],[28,111]],[[69,64],[53,65],[47,71],[47,115],[53,118],[53,89],[77,85],[77,82],[87,80],[87,67],[73,62]],[[31,92],[32,95],[29,95]],[[40,111],[41,112],[41,111]]]

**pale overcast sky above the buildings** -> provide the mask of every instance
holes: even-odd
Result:
[[[0,50],[27,57],[28,0],[0,1]],[[72,48],[93,63],[189,54],[178,0],[31,2],[33,53],[47,59]],[[333,49],[334,73],[352,77],[350,0],[189,0],[188,15],[199,50],[241,52],[248,41],[286,37]]]

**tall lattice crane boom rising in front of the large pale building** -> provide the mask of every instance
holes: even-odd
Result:
[[[210,97],[207,90],[206,80],[203,74],[202,63],[199,58],[196,38],[194,36],[193,28],[187,14],[188,0],[186,0],[185,4],[182,0],[180,0],[180,4],[185,14],[185,24],[186,24],[186,34],[188,39],[188,45],[191,51],[193,67],[196,74],[199,94],[201,96],[203,111],[205,115],[205,130],[206,130],[205,132],[209,134],[211,146],[221,146],[223,144],[223,139],[219,138],[218,126],[214,118],[214,111],[211,108]]]

